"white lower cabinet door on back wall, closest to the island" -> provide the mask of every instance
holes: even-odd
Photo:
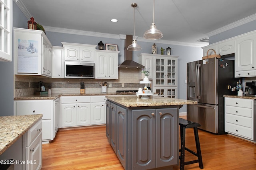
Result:
[[[105,106],[105,102],[97,102],[91,104],[91,125],[106,123]]]

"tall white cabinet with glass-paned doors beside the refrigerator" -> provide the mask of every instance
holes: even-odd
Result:
[[[142,53],[138,57],[142,65],[146,63],[145,59],[152,59],[152,92],[162,97],[178,98],[178,56]]]

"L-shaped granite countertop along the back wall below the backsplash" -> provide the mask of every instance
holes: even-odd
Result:
[[[42,100],[42,99],[56,99],[60,96],[109,96],[109,95],[136,95],[136,93],[85,93],[85,94],[80,94],[80,93],[74,93],[74,94],[59,94],[59,93],[52,93],[52,94],[31,94],[27,96],[20,96],[20,97],[15,97],[14,100]]]

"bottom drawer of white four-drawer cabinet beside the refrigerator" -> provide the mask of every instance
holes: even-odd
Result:
[[[228,133],[232,133],[234,135],[238,135],[253,140],[252,128],[234,125],[232,123],[226,123],[225,131]]]

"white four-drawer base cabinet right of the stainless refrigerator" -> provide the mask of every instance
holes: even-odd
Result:
[[[225,131],[255,140],[254,100],[242,98],[225,98]]]

